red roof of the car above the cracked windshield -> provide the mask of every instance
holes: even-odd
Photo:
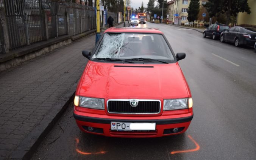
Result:
[[[163,34],[156,28],[140,28],[140,27],[112,27],[107,29],[104,33],[151,33]]]

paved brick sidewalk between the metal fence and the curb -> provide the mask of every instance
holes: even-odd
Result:
[[[94,45],[90,35],[0,72],[0,160],[30,156],[75,92],[87,63],[82,51]]]

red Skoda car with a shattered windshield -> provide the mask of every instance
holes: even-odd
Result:
[[[184,133],[193,118],[189,86],[164,34],[151,28],[109,28],[75,93],[74,117],[83,132],[109,137]]]

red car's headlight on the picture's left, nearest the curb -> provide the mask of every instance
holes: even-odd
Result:
[[[105,109],[104,99],[102,98],[89,98],[76,95],[74,104],[75,106],[80,106],[84,108]]]

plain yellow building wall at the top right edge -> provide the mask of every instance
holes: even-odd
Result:
[[[240,12],[237,15],[237,25],[248,25],[256,27],[256,0],[248,0],[251,14]]]

